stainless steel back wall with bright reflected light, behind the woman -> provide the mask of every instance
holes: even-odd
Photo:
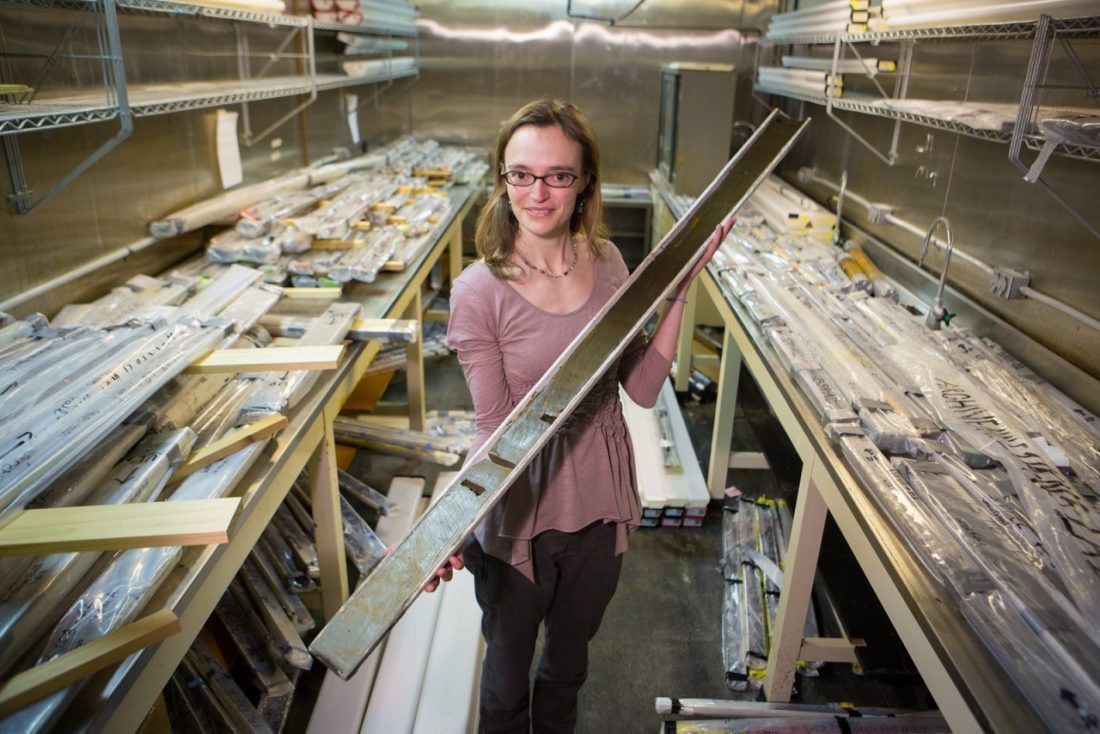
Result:
[[[645,184],[657,156],[660,67],[722,62],[747,69],[755,46],[741,31],[766,18],[766,2],[654,0],[609,26],[580,15],[617,18],[634,2],[420,3],[420,79],[411,128],[441,141],[491,147],[501,123],[540,96],[572,100],[600,138],[604,179]],[[748,75],[735,117],[759,117]],[[391,123],[394,124],[394,123]],[[377,131],[384,136],[393,129]]]

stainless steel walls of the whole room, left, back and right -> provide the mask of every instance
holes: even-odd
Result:
[[[580,18],[618,17],[634,4],[627,0],[425,0],[420,3],[419,78],[352,90],[359,96],[363,138],[381,142],[415,131],[446,142],[488,146],[499,123],[517,107],[539,95],[559,95],[576,101],[592,119],[602,141],[606,180],[645,184],[656,155],[662,64],[736,65],[741,73],[735,119],[762,116],[763,108],[750,94],[757,44],[751,33],[734,29],[762,28],[776,2],[649,0],[615,26]],[[578,17],[569,17],[566,7]],[[0,31],[9,51],[43,52],[56,42],[67,20],[62,11],[2,9]],[[132,81],[224,79],[237,73],[230,24],[135,15],[123,15],[122,24]],[[282,37],[263,29],[249,32],[256,58]],[[81,43],[82,48],[91,47],[88,37]],[[1100,66],[1096,40],[1077,47],[1089,68]],[[887,55],[891,48],[884,45],[876,53]],[[334,67],[337,50],[334,41],[321,44],[322,69]],[[829,51],[818,47],[803,53]],[[1026,41],[919,43],[910,96],[1013,101],[1019,98],[1028,51]],[[290,73],[293,65],[286,62],[274,73]],[[4,72],[6,80],[13,80],[19,67],[10,65]],[[1057,61],[1052,80],[1067,74],[1066,64]],[[63,64],[57,79],[63,90],[97,81],[76,62]],[[1084,103],[1069,95],[1048,99]],[[254,129],[262,129],[295,103],[254,103]],[[788,105],[792,112],[799,112],[799,107]],[[791,180],[801,166],[814,166],[833,179],[847,169],[854,191],[894,206],[899,216],[921,227],[936,216],[948,216],[961,250],[993,265],[1026,270],[1038,291],[1100,317],[1100,248],[1046,194],[1022,182],[1007,160],[1005,145],[903,124],[900,160],[887,166],[828,120],[822,108],[807,106],[805,113],[815,121],[782,168]],[[0,210],[6,275],[0,278],[0,300],[141,240],[147,220],[216,194],[220,187],[212,116],[212,110],[201,110],[139,119],[131,140],[50,204],[29,216]],[[334,146],[351,147],[344,116],[343,95],[322,94],[271,140],[242,149],[246,179],[301,165]],[[891,122],[853,114],[845,119],[881,150],[889,146]],[[101,123],[21,134],[20,150],[35,190],[48,187],[114,129],[113,123]],[[1046,177],[1093,222],[1100,221],[1094,204],[1100,166],[1056,157]],[[6,186],[3,193],[10,190]],[[810,193],[822,201],[828,197],[822,187],[811,187]],[[871,224],[856,207],[846,213],[903,258],[915,258],[916,238]],[[154,270],[197,244],[197,237],[165,243],[116,269],[113,275]],[[930,265],[938,271],[939,258],[933,256]],[[1100,336],[1094,331],[1035,302],[992,296],[985,275],[961,260],[953,263],[949,282],[1086,373],[1100,376]],[[86,280],[28,308],[52,313],[65,300],[91,297],[102,287],[100,281]]]

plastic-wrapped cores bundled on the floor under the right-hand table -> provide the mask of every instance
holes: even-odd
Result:
[[[722,639],[726,683],[743,691],[760,688],[779,612],[782,566],[790,543],[791,512],[782,500],[745,496],[727,500],[722,521]],[[806,637],[817,636],[813,604],[806,610]],[[814,677],[824,664],[800,660],[798,671]]]

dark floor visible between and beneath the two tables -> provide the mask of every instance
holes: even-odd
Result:
[[[471,407],[453,357],[429,361],[426,371],[429,409]],[[730,472],[729,483],[749,495],[778,495],[793,501],[800,471],[798,456],[751,379],[743,374],[740,384],[735,446],[739,450],[763,450],[773,470]],[[404,401],[403,375],[395,379],[383,399]],[[681,402],[697,456],[705,459],[714,406],[686,396]],[[396,474],[422,475],[430,489],[440,471],[362,451],[352,469],[378,489],[388,486]],[[579,734],[657,731],[662,717],[653,709],[656,697],[758,698],[756,691],[735,693],[725,683],[721,647],[724,583],[718,571],[722,512],[717,503],[712,503],[701,528],[647,528],[631,536],[618,591],[590,648],[590,678],[581,694]],[[834,595],[839,596],[848,633],[866,637],[873,654],[867,657],[865,675],[854,675],[849,666],[831,665],[820,678],[800,678],[795,700],[932,708],[835,527],[827,533],[823,559],[834,571],[828,580],[832,585],[835,577]]]

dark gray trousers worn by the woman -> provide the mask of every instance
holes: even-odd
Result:
[[[548,530],[531,543],[536,583],[482,550],[465,546],[474,574],[486,653],[481,680],[485,734],[558,734],[576,725],[576,695],[588,672],[588,640],[615,594],[623,557],[615,526]],[[531,658],[546,623],[542,657],[530,691]]]

